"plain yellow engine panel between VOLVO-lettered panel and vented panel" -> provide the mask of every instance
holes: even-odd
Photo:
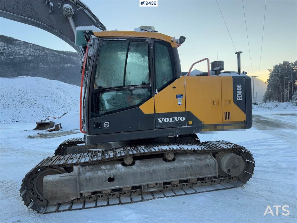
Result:
[[[186,76],[186,110],[205,124],[222,123],[220,76]]]

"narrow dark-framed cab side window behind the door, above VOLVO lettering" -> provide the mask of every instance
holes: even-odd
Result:
[[[156,88],[159,91],[175,78],[171,45],[155,41],[154,59]]]

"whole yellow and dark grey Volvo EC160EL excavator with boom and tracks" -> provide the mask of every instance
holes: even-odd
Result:
[[[1,1],[1,17],[44,29],[82,60],[80,131],[24,177],[20,196],[40,213],[235,188],[255,161],[227,141],[197,134],[252,126],[251,79],[182,75],[178,47],[152,26],[108,31],[79,0]],[[237,52],[238,53],[238,52]],[[240,52],[239,52],[240,53]],[[239,55],[240,56],[240,55]],[[201,61],[203,61],[201,60]]]

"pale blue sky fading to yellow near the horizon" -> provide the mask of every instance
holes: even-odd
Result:
[[[247,32],[241,0],[218,4],[227,23],[230,39],[216,1],[159,0],[158,7],[139,7],[139,1],[83,0],[108,30],[134,30],[141,25],[155,26],[156,31],[174,36],[185,36],[178,48],[182,71],[188,71],[193,62],[208,57],[210,61],[223,60],[225,70],[237,71],[236,51],[241,54],[241,71],[266,81],[267,69],[284,60],[297,60],[297,5],[295,0],[268,0],[264,25],[262,59],[260,50],[263,32],[265,1],[244,0]],[[39,28],[0,18],[0,33],[19,40],[55,50],[75,51],[58,37]],[[252,61],[252,63],[251,63]],[[259,72],[260,65],[260,72]],[[206,62],[193,69],[207,70]]]

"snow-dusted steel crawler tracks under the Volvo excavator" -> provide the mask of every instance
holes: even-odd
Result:
[[[66,140],[58,147],[55,154],[59,154],[59,151],[61,151],[66,146],[80,143],[83,143],[83,139],[81,138]],[[123,159],[127,156],[137,158],[137,156],[154,155],[168,152],[213,153],[215,156],[215,154],[218,152],[224,151],[232,151],[233,153],[236,153],[244,158],[246,165],[244,171],[240,175],[235,177],[222,175],[218,178],[209,180],[200,178],[194,183],[189,183],[186,180],[180,181],[178,184],[163,182],[162,191],[151,193],[143,193],[143,191],[141,191],[141,185],[133,186],[129,191],[121,191],[121,189],[116,189],[107,194],[102,194],[100,191],[97,191],[90,197],[80,197],[78,199],[72,200],[71,202],[60,203],[56,205],[50,204],[48,201],[40,197],[34,190],[34,179],[40,172],[46,169],[63,170],[64,168],[73,167],[75,165],[82,166],[97,164],[110,160]],[[37,212],[51,213],[58,211],[78,210],[234,188],[243,185],[252,177],[254,167],[254,159],[248,150],[246,150],[244,147],[226,141],[144,144],[130,147],[111,148],[109,150],[91,151],[87,153],[56,155],[45,158],[26,174],[21,185],[20,195],[23,198],[25,205]]]

